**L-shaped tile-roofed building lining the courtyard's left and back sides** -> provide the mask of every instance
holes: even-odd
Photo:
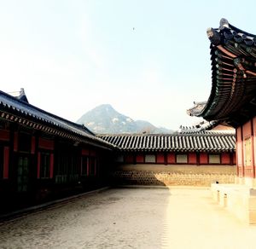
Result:
[[[0,211],[117,179],[161,185],[233,182],[234,133],[207,130],[212,125],[172,135],[96,136],[84,125],[32,106],[24,90],[15,96],[0,91]]]

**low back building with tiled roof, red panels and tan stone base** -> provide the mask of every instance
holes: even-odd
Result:
[[[233,132],[100,137],[117,148],[113,181],[119,184],[210,186],[235,181]]]

